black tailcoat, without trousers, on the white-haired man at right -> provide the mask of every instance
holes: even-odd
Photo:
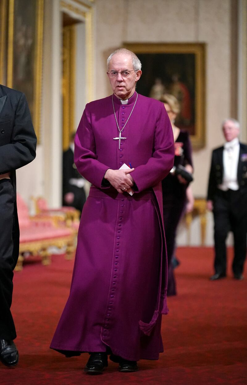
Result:
[[[209,173],[209,185],[207,200],[214,200],[217,186],[222,183],[223,179],[223,150],[224,146],[216,148],[212,152],[212,161]],[[237,169],[237,180],[240,190],[247,190],[247,145],[240,143],[239,163]],[[247,192],[247,191],[246,191]]]

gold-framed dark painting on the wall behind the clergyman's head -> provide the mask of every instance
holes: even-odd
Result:
[[[190,132],[194,149],[205,146],[205,44],[124,43],[142,62],[137,92],[159,97],[173,94],[180,102],[175,124]]]

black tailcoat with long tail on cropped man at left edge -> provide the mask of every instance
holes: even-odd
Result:
[[[35,158],[36,143],[37,138],[25,95],[0,84],[0,174],[10,172],[15,194],[15,170],[25,166]],[[14,212],[13,257],[17,261],[19,226],[16,200]]]

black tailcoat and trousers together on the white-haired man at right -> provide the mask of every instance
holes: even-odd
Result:
[[[232,270],[235,276],[240,276],[244,269],[246,258],[247,232],[247,145],[240,143],[239,162],[237,166],[237,191],[221,191],[224,176],[223,164],[224,147],[212,152],[212,162],[209,174],[207,199],[213,201],[214,214],[214,245],[215,273],[226,274],[227,251],[226,238],[229,231],[234,236],[234,260]]]

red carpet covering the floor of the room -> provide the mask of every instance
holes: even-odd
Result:
[[[232,259],[230,250],[229,262]],[[163,316],[165,353],[140,361],[137,373],[118,373],[109,364],[102,376],[83,373],[88,355],[64,358],[49,349],[70,288],[73,261],[53,256],[51,266],[30,263],[15,273],[12,311],[20,353],[17,367],[0,366],[0,384],[167,384],[247,383],[247,274],[210,282],[211,248],[179,248],[178,296]],[[245,269],[246,271],[246,269]]]

